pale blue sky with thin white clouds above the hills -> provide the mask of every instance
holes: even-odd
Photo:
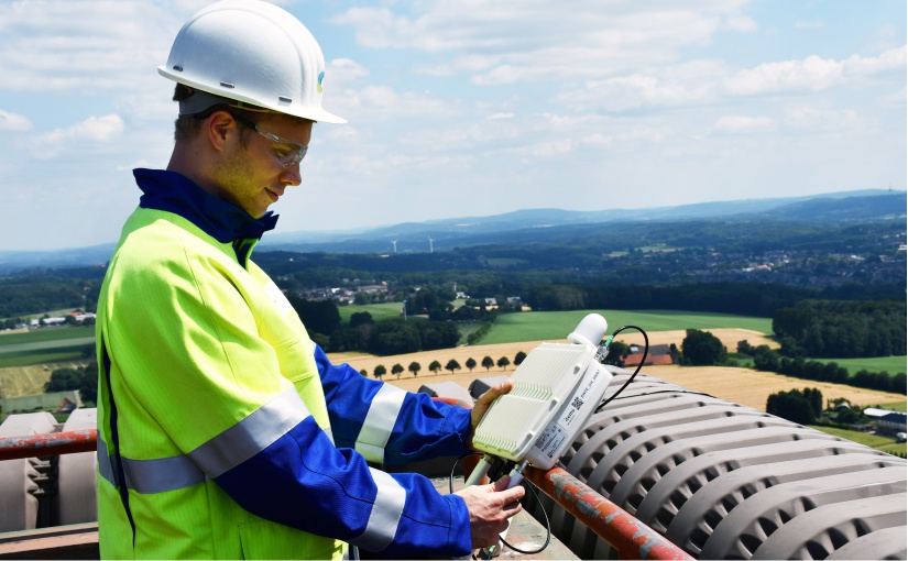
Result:
[[[0,251],[112,243],[207,1],[0,1]],[[276,232],[906,188],[905,0],[300,0],[326,59]]]

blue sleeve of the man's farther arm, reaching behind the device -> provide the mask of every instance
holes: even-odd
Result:
[[[319,346],[315,358],[338,447],[395,466],[467,451],[469,409],[365,378],[348,364],[333,365]]]

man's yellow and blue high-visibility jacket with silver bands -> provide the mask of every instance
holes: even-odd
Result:
[[[249,261],[276,217],[135,177],[98,302],[102,557],[468,554],[460,497],[368,461],[458,455],[469,411],[328,361]]]

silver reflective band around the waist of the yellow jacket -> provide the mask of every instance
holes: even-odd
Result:
[[[117,477],[113,475],[113,462],[117,455],[109,457],[107,443],[98,439],[98,471],[114,487]],[[139,493],[164,493],[205,482],[205,473],[186,455],[156,460],[120,459],[123,462],[127,488]]]

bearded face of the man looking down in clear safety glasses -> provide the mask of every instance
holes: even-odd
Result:
[[[245,117],[245,114],[243,116]],[[282,118],[251,116],[263,131],[295,144],[307,146],[313,123]],[[293,151],[289,143],[274,142],[237,122],[244,142],[234,142],[216,167],[212,179],[219,198],[240,207],[253,218],[262,218],[288,186],[299,185],[299,163],[284,167],[276,156]]]

